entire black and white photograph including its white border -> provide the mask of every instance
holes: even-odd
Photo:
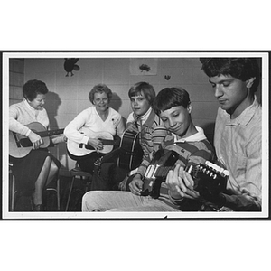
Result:
[[[4,52],[3,218],[268,218],[269,57]]]

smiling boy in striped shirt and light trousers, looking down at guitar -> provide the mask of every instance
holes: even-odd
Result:
[[[178,154],[176,164],[194,165],[214,159],[213,148],[203,130],[192,123],[192,105],[185,89],[166,88],[161,90],[154,99],[153,107],[168,130],[168,135],[161,144],[161,150],[164,150],[165,154],[171,151],[176,152]],[[159,150],[155,154],[158,152]],[[180,199],[173,198],[173,195],[178,195],[178,186],[162,182],[160,195],[154,198],[150,195],[142,195],[144,182],[144,178],[131,182],[129,184],[130,192],[87,192],[83,196],[82,211],[182,210]],[[186,208],[187,201],[182,202]],[[198,208],[200,206],[192,206],[192,209]]]

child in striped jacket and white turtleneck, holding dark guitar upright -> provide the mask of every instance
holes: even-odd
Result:
[[[154,87],[146,82],[138,82],[129,89],[128,96],[133,112],[127,118],[126,130],[139,133],[139,143],[143,150],[142,162],[136,173],[131,173],[128,178],[129,169],[118,167],[117,161],[112,162],[114,159],[109,159],[110,162],[101,164],[98,177],[93,178],[91,183],[91,190],[127,190],[129,182],[144,175],[148,165],[147,156],[158,149],[166,135],[162,120],[152,108],[155,98]],[[107,160],[107,156],[104,160]]]

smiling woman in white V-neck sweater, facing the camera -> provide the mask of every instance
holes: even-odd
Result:
[[[103,156],[100,137],[111,138],[122,135],[125,126],[121,115],[109,107],[112,91],[104,84],[98,84],[89,92],[93,106],[83,110],[64,129],[68,138],[68,154],[78,162],[82,171],[93,173],[94,163]],[[89,145],[90,148],[85,148]],[[110,149],[109,149],[110,150]]]

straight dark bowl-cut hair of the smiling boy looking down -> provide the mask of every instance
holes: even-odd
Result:
[[[172,107],[182,106],[187,108],[190,105],[189,94],[182,88],[162,89],[154,99],[154,112],[160,115],[162,111]]]

